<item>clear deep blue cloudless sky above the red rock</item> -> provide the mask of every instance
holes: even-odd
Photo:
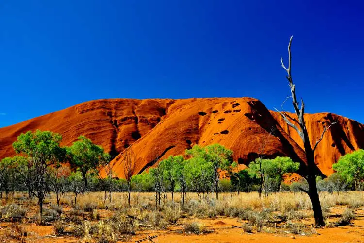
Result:
[[[0,127],[101,98],[279,108],[290,35],[306,111],[364,122],[363,1],[1,0]]]

